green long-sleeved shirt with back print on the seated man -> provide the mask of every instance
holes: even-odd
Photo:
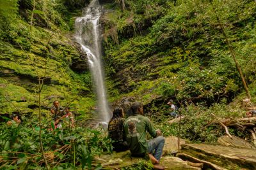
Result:
[[[125,120],[124,135],[132,154],[147,153],[147,132],[156,137],[156,130],[147,117],[132,115]]]

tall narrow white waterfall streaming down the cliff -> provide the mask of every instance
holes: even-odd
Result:
[[[88,64],[92,73],[93,85],[97,94],[97,111],[102,122],[108,122],[111,113],[108,107],[102,69],[102,39],[99,18],[102,6],[98,0],[93,0],[83,10],[83,17],[76,18],[76,41],[87,54]]]

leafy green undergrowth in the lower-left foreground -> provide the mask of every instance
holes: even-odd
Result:
[[[22,118],[22,125],[0,127],[0,169],[45,169],[37,120]],[[70,129],[68,122],[63,124],[63,130],[50,131],[49,124],[44,122],[42,140],[51,169],[101,169],[100,164],[92,161],[103,151],[111,152],[111,141],[106,134],[82,127]]]

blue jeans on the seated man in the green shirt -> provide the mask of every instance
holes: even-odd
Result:
[[[147,141],[148,153],[152,153],[158,161],[160,161],[163,153],[164,141],[165,139],[163,136],[157,136],[157,138]]]

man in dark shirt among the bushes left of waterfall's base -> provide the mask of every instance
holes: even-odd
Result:
[[[55,128],[61,128],[62,119],[66,117],[67,113],[64,108],[60,106],[59,101],[54,101],[51,107],[52,120],[54,120]]]

